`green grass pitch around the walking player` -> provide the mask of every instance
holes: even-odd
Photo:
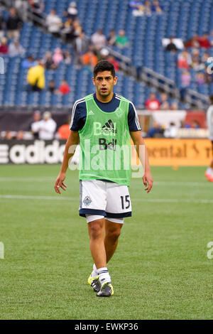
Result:
[[[77,172],[54,193],[59,166],[0,166],[1,319],[212,319],[213,183],[205,168],[154,167],[131,182],[133,217],[109,262],[114,296],[97,298]]]

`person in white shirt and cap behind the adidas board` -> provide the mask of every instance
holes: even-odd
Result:
[[[43,119],[40,122],[33,123],[31,129],[33,132],[38,132],[38,139],[53,140],[56,123],[54,119],[51,118],[50,112],[44,112]]]

